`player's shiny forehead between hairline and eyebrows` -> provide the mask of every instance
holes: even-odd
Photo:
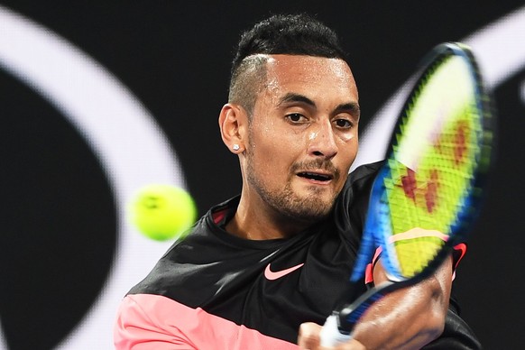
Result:
[[[267,60],[267,90],[294,91],[357,100],[352,71],[344,60],[299,55],[271,55]],[[313,96],[315,97],[315,96]]]

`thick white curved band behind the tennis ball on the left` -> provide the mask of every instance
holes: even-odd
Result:
[[[106,170],[118,212],[115,263],[96,303],[59,348],[111,349],[119,301],[170,245],[138,235],[127,224],[124,208],[145,184],[183,187],[179,163],[152,115],[110,72],[49,29],[3,6],[0,68],[60,110]],[[5,343],[2,347],[7,348]]]

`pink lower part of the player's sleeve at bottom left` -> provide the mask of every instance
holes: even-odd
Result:
[[[299,349],[203,309],[152,294],[124,298],[117,312],[114,341],[117,350]]]

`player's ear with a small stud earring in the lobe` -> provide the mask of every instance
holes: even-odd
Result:
[[[226,104],[222,107],[218,123],[226,147],[235,154],[245,150],[248,115],[242,106]]]

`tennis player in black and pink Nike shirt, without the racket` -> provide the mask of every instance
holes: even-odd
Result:
[[[323,23],[274,15],[244,32],[218,117],[241,194],[212,207],[124,297],[116,348],[318,348],[318,325],[345,301],[381,166],[348,175],[359,118],[354,75]],[[340,348],[479,348],[451,299],[460,258],[377,302]],[[371,262],[362,290],[385,279]]]

